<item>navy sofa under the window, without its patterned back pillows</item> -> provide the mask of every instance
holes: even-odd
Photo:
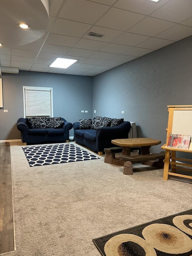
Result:
[[[69,142],[69,130],[73,128],[73,124],[64,118],[60,118],[62,122],[60,121],[57,128],[46,128],[46,126],[45,128],[32,128],[28,120],[28,118],[19,118],[16,124],[25,145]],[[52,126],[54,127],[54,124]]]

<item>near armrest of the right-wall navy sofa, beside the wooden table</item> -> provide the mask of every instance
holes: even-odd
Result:
[[[115,127],[99,127],[97,129],[96,140],[98,139],[127,139],[131,129],[131,123],[128,121]]]

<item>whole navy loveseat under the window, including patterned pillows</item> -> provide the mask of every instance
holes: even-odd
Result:
[[[19,118],[17,129],[26,145],[69,142],[73,124],[62,117]]]

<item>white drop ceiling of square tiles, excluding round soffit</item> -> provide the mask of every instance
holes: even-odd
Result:
[[[192,35],[191,0],[158,3],[50,0],[49,3],[49,25],[45,34],[29,44],[0,49],[1,66],[95,76]],[[23,13],[29,11],[23,8]],[[30,20],[36,15],[31,12]],[[10,27],[4,26],[7,26],[4,33],[9,35]],[[90,32],[104,36],[89,36]],[[67,69],[50,68],[57,57],[78,61]]]

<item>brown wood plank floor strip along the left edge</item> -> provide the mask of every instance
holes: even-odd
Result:
[[[0,143],[0,254],[14,250],[10,145]]]

